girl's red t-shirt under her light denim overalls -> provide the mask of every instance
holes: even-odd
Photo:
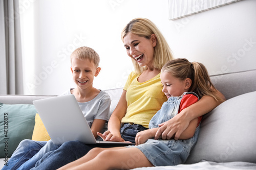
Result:
[[[183,109],[187,108],[188,106],[194,104],[198,102],[198,98],[197,96],[195,96],[194,94],[186,94],[183,96],[183,98],[180,101],[180,108],[179,108],[179,112],[180,113]],[[201,119],[203,116],[198,117],[198,123],[197,123],[197,127],[199,126]]]

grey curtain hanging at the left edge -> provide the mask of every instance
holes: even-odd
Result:
[[[0,0],[0,94],[23,94],[18,0]]]

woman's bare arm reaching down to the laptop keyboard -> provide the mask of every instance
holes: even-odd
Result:
[[[120,134],[121,119],[125,116],[126,109],[127,109],[127,102],[125,99],[125,95],[126,95],[126,91],[123,90],[120,100],[115,110],[113,111],[112,115],[110,116],[110,120],[108,123],[108,130],[110,131],[110,133],[106,133],[107,136],[105,136],[106,137],[105,140],[116,141],[114,136],[121,138],[121,134]]]

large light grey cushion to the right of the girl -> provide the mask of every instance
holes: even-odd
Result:
[[[198,141],[186,163],[256,163],[256,91],[231,98],[203,117]]]

